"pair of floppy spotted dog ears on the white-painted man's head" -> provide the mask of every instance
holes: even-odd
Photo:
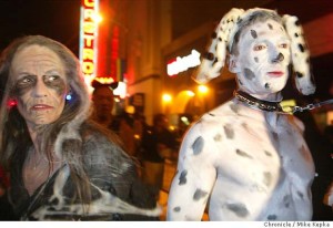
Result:
[[[228,51],[231,51],[234,35],[240,29],[240,22],[251,20],[251,15],[256,11],[268,11],[276,14],[273,10],[261,8],[246,11],[233,8],[221,19],[212,35],[208,53],[202,59],[196,73],[196,82],[206,83],[221,74]],[[291,61],[295,72],[296,89],[303,95],[312,94],[315,92],[315,85],[310,69],[310,52],[305,44],[303,29],[299,24],[299,19],[294,15],[284,14],[282,21],[291,40]]]

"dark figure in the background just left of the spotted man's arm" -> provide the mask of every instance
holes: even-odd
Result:
[[[152,193],[157,199],[163,185],[164,159],[172,156],[176,151],[176,141],[169,131],[168,123],[164,114],[155,114],[153,126],[145,127],[141,143],[142,179],[152,187]]]

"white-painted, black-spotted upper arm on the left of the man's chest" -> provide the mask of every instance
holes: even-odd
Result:
[[[215,146],[209,138],[201,123],[185,135],[169,194],[167,220],[201,220],[216,178]]]

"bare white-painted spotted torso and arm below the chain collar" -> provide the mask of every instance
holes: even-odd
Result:
[[[203,115],[183,139],[167,219],[201,220],[209,201],[210,220],[311,220],[314,165],[302,131],[293,116],[235,100]]]

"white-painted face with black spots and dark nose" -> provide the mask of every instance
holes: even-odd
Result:
[[[289,77],[290,39],[274,20],[258,22],[241,32],[239,55],[232,56],[241,90],[261,97],[280,92]]]

